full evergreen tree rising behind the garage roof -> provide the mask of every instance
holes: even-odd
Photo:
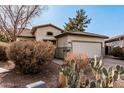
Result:
[[[69,22],[65,23],[66,31],[85,31],[87,24],[90,23],[91,19],[88,19],[86,12],[81,9],[76,12],[76,17],[69,18]]]

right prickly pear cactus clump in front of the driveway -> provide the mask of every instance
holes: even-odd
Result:
[[[102,60],[96,57],[90,63],[96,77],[96,83],[94,84],[99,88],[113,87],[114,82],[120,79],[121,74],[124,74],[124,68],[122,66],[117,65],[116,69],[112,67],[106,69],[102,65]]]

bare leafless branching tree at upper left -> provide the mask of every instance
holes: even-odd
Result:
[[[9,38],[16,41],[31,20],[38,16],[45,6],[38,5],[1,5],[0,6],[0,29]]]

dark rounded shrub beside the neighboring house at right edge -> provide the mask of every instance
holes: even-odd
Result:
[[[121,47],[114,47],[112,55],[115,57],[124,57],[124,50]]]

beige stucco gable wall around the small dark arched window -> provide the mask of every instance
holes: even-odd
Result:
[[[47,32],[52,32],[53,36],[48,36]],[[48,27],[41,27],[41,28],[37,28],[36,32],[35,32],[35,37],[36,40],[56,40],[54,36],[61,34],[61,31],[52,27],[52,26],[48,26]]]

